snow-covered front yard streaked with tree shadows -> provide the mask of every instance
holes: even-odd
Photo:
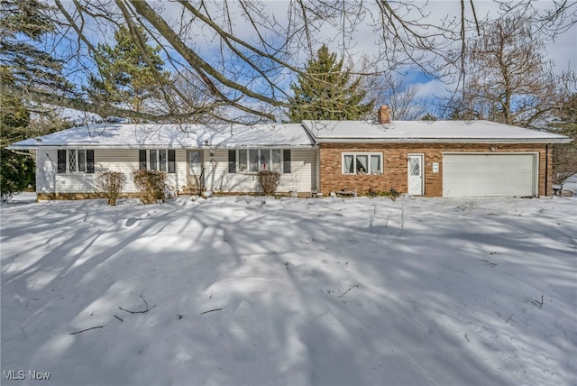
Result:
[[[3,385],[577,384],[574,197],[0,215]]]

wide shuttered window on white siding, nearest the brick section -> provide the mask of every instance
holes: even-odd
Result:
[[[290,173],[290,150],[241,149],[228,151],[229,173],[256,173],[260,170]]]

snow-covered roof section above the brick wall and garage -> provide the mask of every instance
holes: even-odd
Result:
[[[316,142],[571,142],[563,135],[489,121],[303,121]]]

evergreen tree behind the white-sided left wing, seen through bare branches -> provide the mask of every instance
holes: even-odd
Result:
[[[98,44],[95,55],[98,74],[92,74],[88,90],[94,102],[131,105],[134,111],[142,111],[147,99],[160,97],[160,87],[168,81],[168,72],[162,71],[164,61],[160,58],[160,47],[152,48],[142,27],[136,29],[136,37],[121,26],[114,32],[116,45]],[[135,39],[136,38],[136,41]],[[137,44],[142,44],[146,54],[142,55]],[[156,78],[153,69],[160,78]]]

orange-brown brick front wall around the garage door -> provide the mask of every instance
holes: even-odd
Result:
[[[371,188],[375,191],[395,188],[407,192],[408,154],[425,154],[425,196],[443,196],[443,152],[539,152],[538,194],[551,194],[548,182],[545,194],[545,175],[551,175],[551,161],[547,162],[545,144],[515,143],[321,143],[320,144],[320,191],[325,195],[342,189],[356,189],[360,196]],[[343,174],[343,152],[382,152],[384,154],[381,175]],[[549,149],[549,153],[551,150]],[[551,158],[549,158],[551,160]],[[439,172],[433,172],[438,162]]]

